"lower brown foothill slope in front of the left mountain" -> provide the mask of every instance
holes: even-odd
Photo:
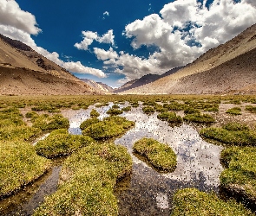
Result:
[[[0,67],[0,95],[79,95],[94,89],[75,80],[27,68]]]

